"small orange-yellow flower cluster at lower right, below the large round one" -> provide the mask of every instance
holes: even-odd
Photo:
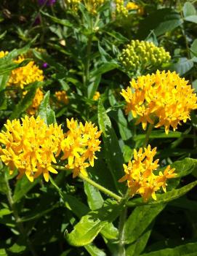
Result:
[[[158,168],[158,159],[153,161],[156,155],[156,147],[151,150],[150,145],[137,152],[134,150],[134,160],[130,160],[128,166],[124,164],[125,175],[119,182],[127,181],[129,194],[134,196],[140,194],[143,201],[148,201],[150,197],[156,200],[156,191],[162,187],[166,192],[166,180],[174,178],[174,168],[167,166],[164,172],[159,171],[158,175],[154,171]]]

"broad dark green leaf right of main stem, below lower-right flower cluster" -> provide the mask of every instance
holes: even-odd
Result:
[[[156,216],[164,209],[166,204],[161,203],[148,206],[136,207],[124,226],[124,239],[126,244],[131,244],[139,238],[142,233],[153,222]]]

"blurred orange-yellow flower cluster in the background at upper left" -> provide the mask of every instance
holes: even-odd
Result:
[[[7,53],[8,52],[1,51],[0,58],[3,58]],[[23,56],[19,56],[14,62],[21,63],[23,61],[25,61],[25,58],[23,58]],[[25,85],[28,85],[31,82],[39,82],[43,80],[43,71],[35,65],[34,61],[30,61],[26,66],[12,70],[8,85],[16,85],[23,89]]]

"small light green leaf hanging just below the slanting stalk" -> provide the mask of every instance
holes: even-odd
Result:
[[[97,190],[96,187],[84,182],[84,191],[87,194],[88,205],[92,211],[102,207],[102,203],[104,201],[102,199],[102,195],[100,195],[100,191]]]

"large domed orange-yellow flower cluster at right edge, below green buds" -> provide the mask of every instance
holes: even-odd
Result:
[[[147,123],[154,123],[156,128],[164,125],[166,133],[169,127],[177,129],[187,119],[190,111],[197,108],[196,93],[191,85],[178,74],[170,71],[156,71],[156,74],[147,74],[132,79],[131,87],[121,91],[126,101],[126,114],[132,112],[138,117],[137,123],[142,123],[145,130]]]

